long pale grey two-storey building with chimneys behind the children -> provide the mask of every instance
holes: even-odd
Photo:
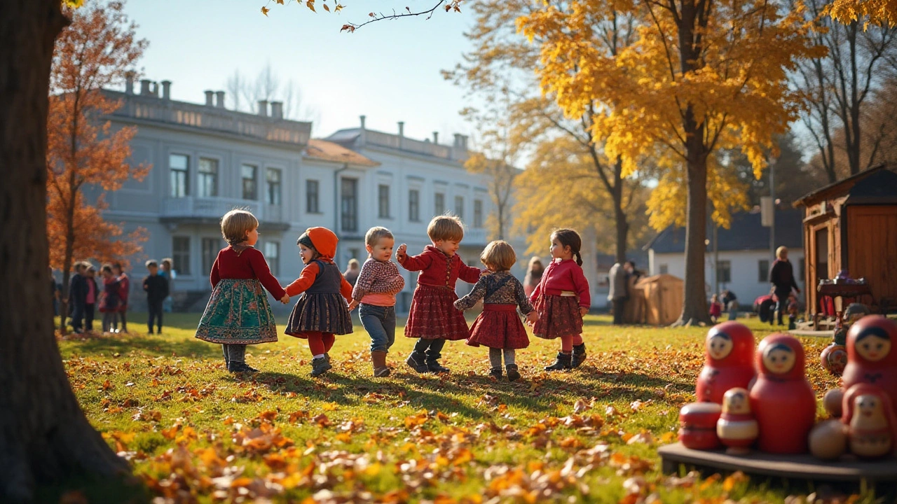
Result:
[[[104,217],[124,222],[126,232],[148,230],[144,253],[132,258],[135,278],[145,274],[146,258],[174,259],[179,308],[202,308],[209,271],[225,245],[219,220],[239,207],[258,217],[257,248],[283,284],[300,273],[296,239],[309,227],[335,231],[342,268],[349,258],[364,260],[364,233],[375,225],[392,230],[396,246],[407,243],[409,253],[420,253],[429,243],[427,223],[447,210],[466,222],[460,256],[479,265],[492,202],[487,178],[464,169],[466,136],[455,135],[452,145],[438,143],[435,134],[419,141],[402,134],[402,123],[392,135],[365,129],[361,117],[359,128],[313,140],[311,124],[284,119],[280,102],[259,102],[256,115],[225,109],[223,91],[206,91],[205,105],[170,100],[167,81],[159,91],[147,80],[139,92],[132,85],[109,91],[122,100],[109,116],[113,128],[138,128],[131,162],[152,169],[107,194]],[[406,280],[401,310],[414,288],[414,276]]]

